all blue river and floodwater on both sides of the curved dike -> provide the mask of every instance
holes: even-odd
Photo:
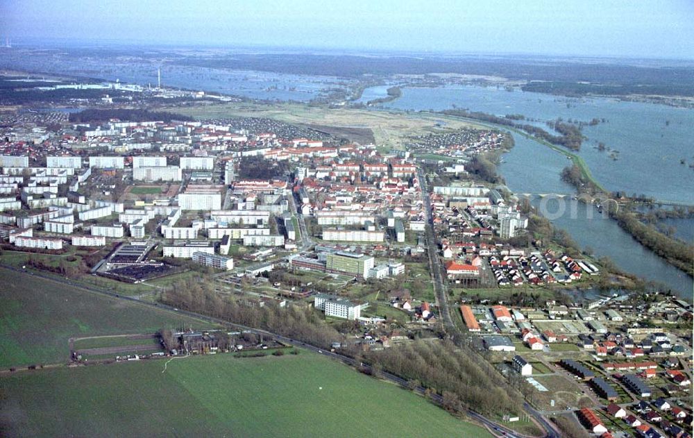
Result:
[[[367,89],[368,90],[368,89]],[[369,90],[372,99],[380,90]],[[620,102],[614,99],[569,99],[561,96],[508,92],[496,87],[457,85],[440,88],[405,88],[400,99],[387,108],[402,110],[442,110],[468,108],[495,115],[522,114],[533,119],[589,121],[593,117],[607,120],[597,126],[584,127],[589,138],[580,155],[593,176],[607,189],[654,196],[656,199],[694,204],[693,162],[694,110],[671,108],[652,103]],[[668,123],[666,124],[666,121]],[[499,171],[507,186],[516,193],[573,194],[575,189],[561,181],[561,169],[570,164],[564,155],[547,146],[514,135],[516,146],[504,155]],[[609,152],[594,148],[595,142],[620,151],[618,160]],[[685,158],[687,165],[680,165]],[[559,203],[565,203],[564,214],[555,214]],[[691,301],[692,278],[672,267],[662,258],[643,248],[616,222],[604,219],[591,205],[566,201],[543,202],[546,216],[555,226],[568,231],[582,248],[590,247],[597,256],[607,255],[624,271],[654,280]],[[678,228],[690,228],[694,221],[679,221]]]

